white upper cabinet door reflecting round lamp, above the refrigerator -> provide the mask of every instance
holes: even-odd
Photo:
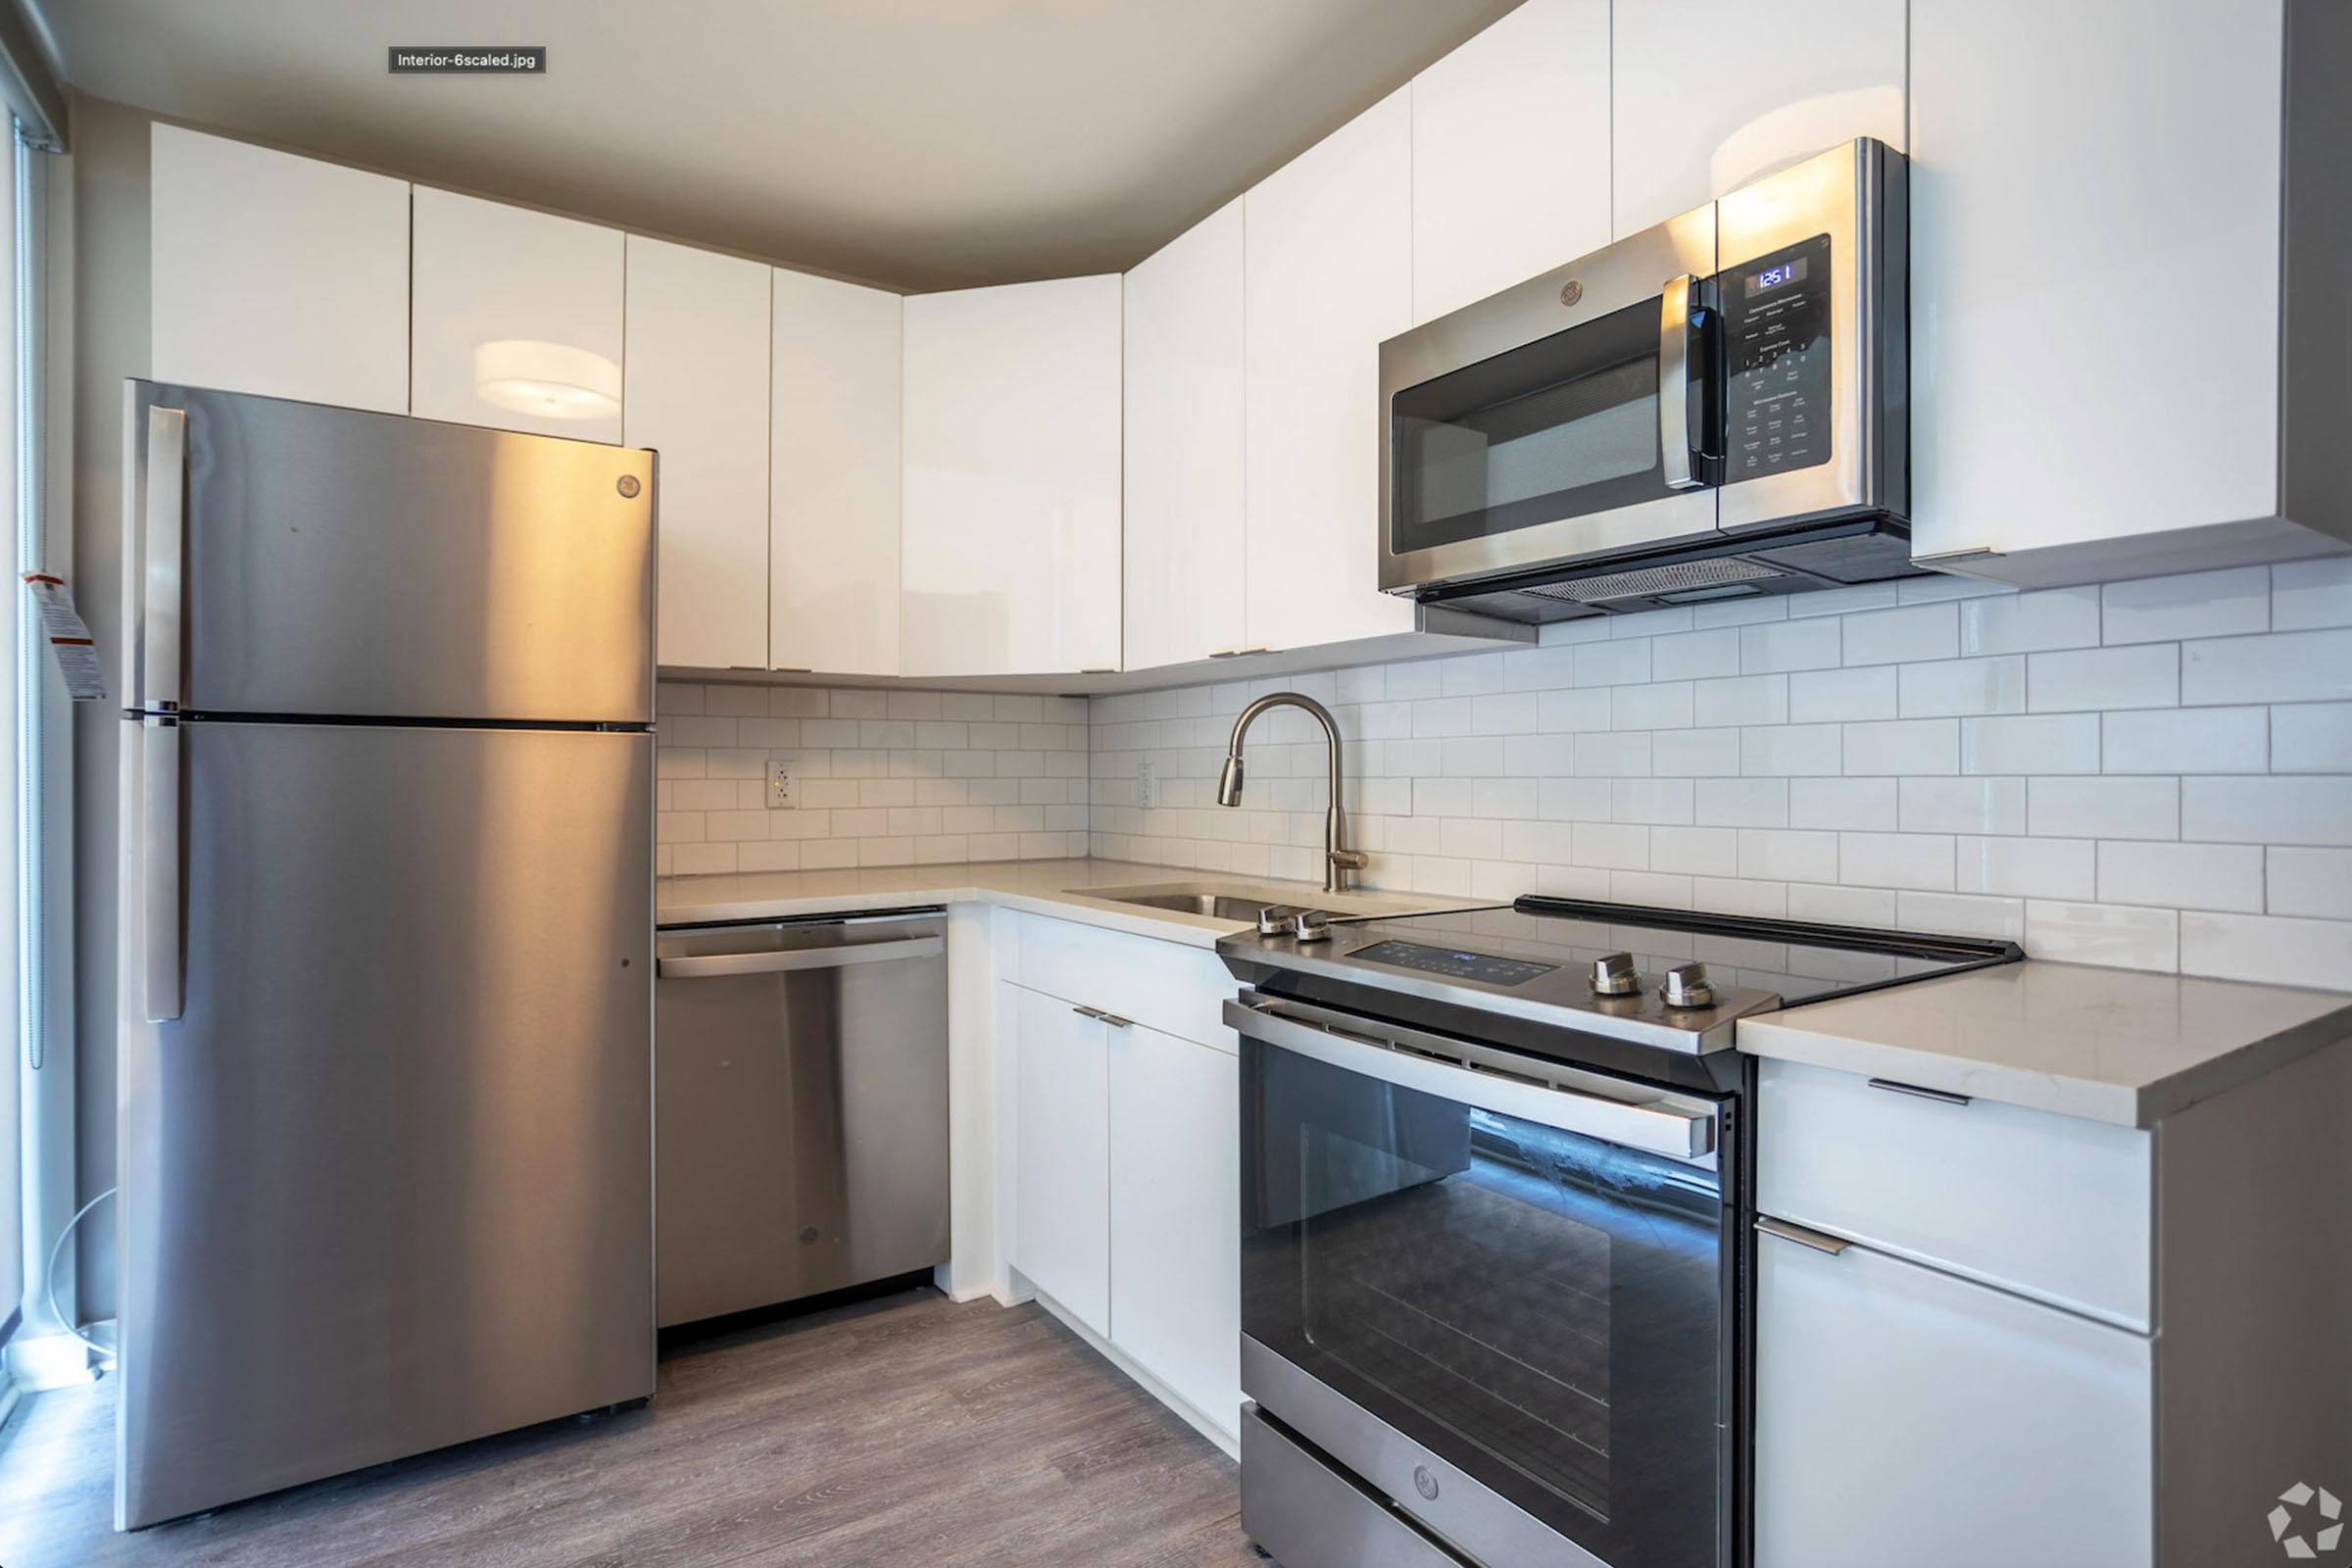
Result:
[[[416,188],[419,418],[621,440],[621,230]]]

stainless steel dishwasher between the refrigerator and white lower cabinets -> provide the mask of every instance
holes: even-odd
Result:
[[[948,1258],[941,910],[656,938],[661,1326]]]

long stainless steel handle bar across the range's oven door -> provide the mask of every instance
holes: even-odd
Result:
[[[1399,1039],[1308,1020],[1263,999],[1228,1001],[1225,1025],[1237,1034],[1296,1051],[1327,1067],[1491,1110],[1498,1117],[1517,1117],[1562,1133],[1583,1133],[1684,1164],[1712,1164],[1715,1159],[1715,1110],[1670,1100],[1661,1091],[1646,1091],[1656,1093],[1646,1100],[1621,1100],[1585,1088],[1559,1088],[1534,1077],[1486,1072],[1461,1060],[1439,1060]],[[1529,1067],[1541,1067],[1541,1063],[1529,1063]],[[1644,1093],[1644,1086],[1625,1084],[1625,1091]]]

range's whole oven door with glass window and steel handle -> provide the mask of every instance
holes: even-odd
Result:
[[[1258,992],[1225,1020],[1244,1394],[1486,1568],[1731,1563],[1724,1105]]]

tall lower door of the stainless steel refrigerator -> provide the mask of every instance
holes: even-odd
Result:
[[[120,1523],[652,1394],[652,762],[179,726],[183,1011],[127,999],[120,1046]]]

